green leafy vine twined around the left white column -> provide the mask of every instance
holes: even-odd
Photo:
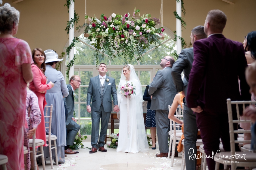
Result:
[[[67,6],[67,13],[69,13],[69,5],[71,5],[71,1],[75,2],[75,0],[66,0],[66,4],[64,4],[64,7]],[[72,26],[72,28],[73,28],[74,24],[75,23],[77,24],[78,21],[79,21],[79,16],[78,16],[78,14],[76,14],[76,11],[74,11],[74,18],[71,18],[70,21],[67,21],[67,27],[65,29],[65,31],[67,31],[67,35],[69,34],[69,29],[71,28],[70,26]],[[70,50],[73,47],[75,47],[75,43],[78,43],[78,42],[79,42],[78,37],[75,37],[73,39],[72,43],[66,48],[67,59],[69,58]],[[61,53],[61,55],[62,55],[62,53]],[[64,53],[64,55],[65,55],[65,53]],[[75,59],[76,59],[76,55],[74,55],[74,58],[72,60],[70,60],[70,62],[67,65],[67,71],[66,71],[67,78],[69,75],[70,67],[72,67],[75,63]]]

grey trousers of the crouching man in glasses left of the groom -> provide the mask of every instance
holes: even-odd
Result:
[[[67,128],[67,145],[73,146],[76,134],[79,131],[80,126],[75,121],[71,120],[70,123],[66,125],[66,128]]]

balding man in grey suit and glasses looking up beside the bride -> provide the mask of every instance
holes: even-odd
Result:
[[[152,96],[151,110],[155,110],[156,129],[158,135],[158,146],[160,154],[156,154],[157,157],[168,156],[168,105],[173,103],[173,99],[177,93],[176,87],[173,83],[173,77],[171,75],[172,66],[175,60],[171,56],[165,56],[161,59],[161,67],[163,70],[159,70],[155,75],[154,80],[149,85],[148,94]]]

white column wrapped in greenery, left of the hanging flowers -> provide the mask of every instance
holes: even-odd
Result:
[[[74,18],[74,12],[75,12],[75,3],[73,2],[73,0],[70,0],[71,4],[69,5],[69,21],[71,20],[71,18]],[[73,23],[74,25],[74,23]],[[72,43],[73,39],[75,38],[75,28],[74,26],[70,26],[69,29],[69,45]],[[69,53],[69,62],[74,58],[74,47],[70,50]],[[68,75],[68,79],[70,79],[71,76],[74,75],[74,65],[72,67],[70,67],[69,70],[69,75]]]

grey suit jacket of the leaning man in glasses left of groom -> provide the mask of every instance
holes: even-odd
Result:
[[[67,84],[68,89],[68,96],[64,97],[65,105],[67,106],[67,121],[66,126],[70,123],[72,117],[73,117],[73,111],[75,109],[75,101],[73,96],[73,90],[70,84]]]

